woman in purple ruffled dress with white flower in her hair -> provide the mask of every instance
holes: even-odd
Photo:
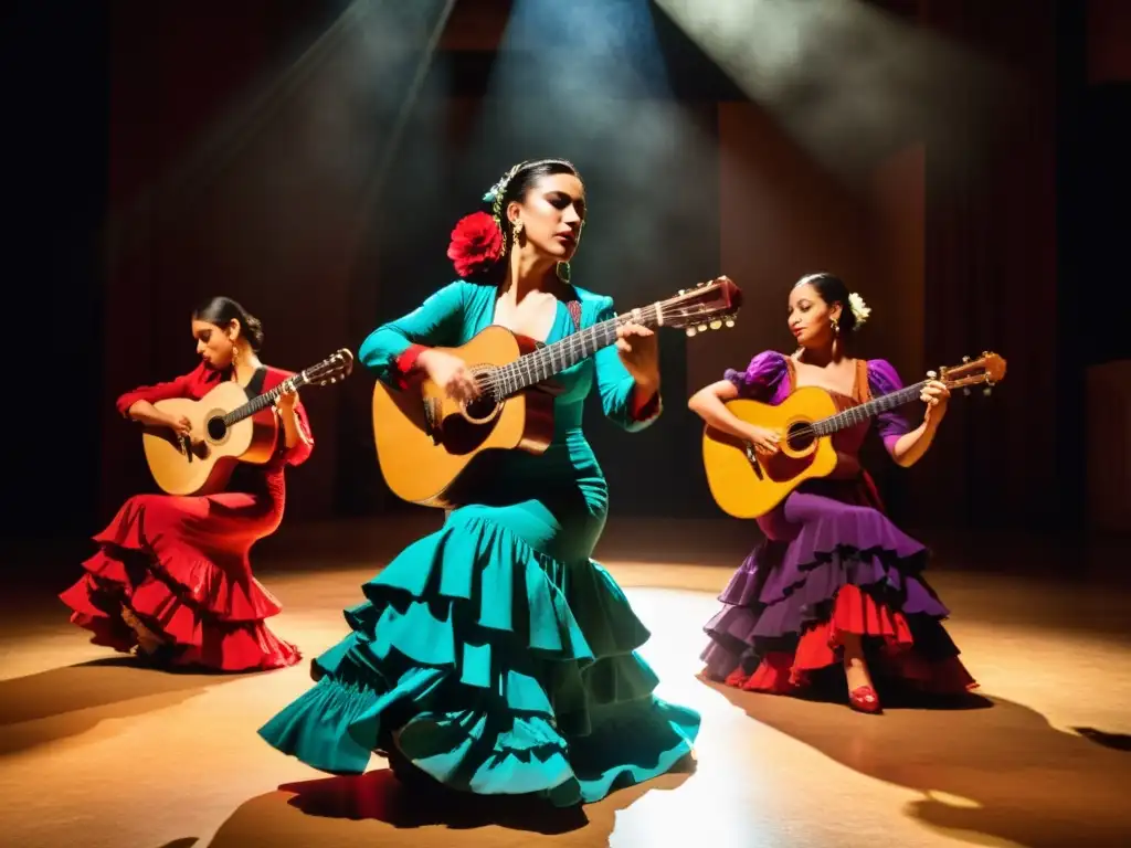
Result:
[[[713,427],[744,439],[763,456],[779,434],[752,426],[724,405],[735,398],[780,404],[805,386],[824,389],[840,409],[903,388],[884,360],[848,354],[870,310],[838,277],[803,277],[789,294],[789,329],[797,352],[767,351],[745,371],[727,371],[690,400]],[[898,410],[878,418],[879,435],[901,466],[918,461],[947,413],[941,382],[923,389],[923,423],[910,427]],[[837,467],[806,481],[758,519],[766,535],[720,596],[723,609],[705,628],[705,676],[749,691],[800,693],[820,670],[843,665],[849,706],[881,711],[875,680],[932,694],[977,686],[940,623],[948,609],[922,577],[927,552],[883,513],[858,453],[865,421],[832,439]]]

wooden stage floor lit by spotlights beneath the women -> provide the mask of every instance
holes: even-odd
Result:
[[[256,561],[285,606],[273,628],[308,658],[333,644],[346,632],[340,609],[359,600],[359,585],[416,531],[414,521],[353,522],[270,540]],[[506,801],[421,803],[378,758],[360,778],[316,772],[256,735],[310,685],[305,663],[259,675],[148,670],[88,644],[50,589],[10,594],[0,620],[0,841],[1131,845],[1125,581],[1065,580],[1065,571],[1091,566],[1022,539],[951,545],[930,577],[953,611],[948,626],[985,704],[862,716],[697,678],[700,628],[746,533],[728,522],[611,528],[598,553],[653,631],[642,652],[661,676],[659,693],[701,711],[702,732],[690,773],[567,812]]]

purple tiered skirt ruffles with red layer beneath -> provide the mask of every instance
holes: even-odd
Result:
[[[705,626],[708,676],[793,692],[810,672],[839,663],[841,634],[854,633],[882,646],[878,673],[933,692],[975,687],[941,624],[949,611],[922,578],[926,560],[878,510],[836,503],[743,562]]]

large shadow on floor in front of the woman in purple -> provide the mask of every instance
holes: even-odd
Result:
[[[993,709],[889,709],[707,683],[751,718],[862,775],[923,793],[906,814],[956,838],[1029,848],[1131,845],[1128,759],[1001,698]]]

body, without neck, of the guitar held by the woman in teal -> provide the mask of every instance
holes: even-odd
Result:
[[[459,356],[472,373],[507,365],[537,343],[491,326],[460,347],[438,351]],[[527,389],[500,404],[478,400],[466,408],[428,378],[404,390],[378,382],[373,389],[373,436],[381,474],[392,493],[424,507],[451,508],[490,475],[499,450],[542,453],[554,434],[554,400]]]

